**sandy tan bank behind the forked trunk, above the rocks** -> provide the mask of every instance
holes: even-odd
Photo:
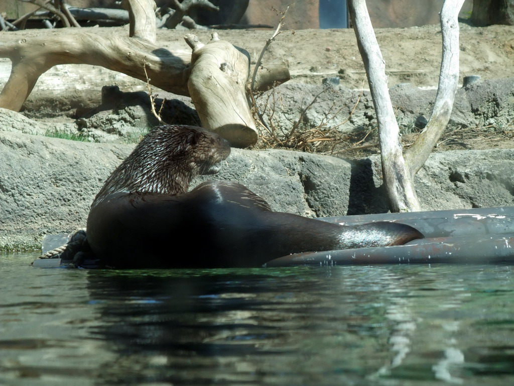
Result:
[[[462,77],[483,79],[514,76],[514,27],[485,28],[460,24]],[[376,36],[386,61],[389,86],[410,82],[420,87],[437,85],[441,55],[438,25],[412,28],[381,28]],[[176,33],[176,32],[173,32]],[[259,55],[269,31],[219,31],[223,39],[246,48],[252,58]],[[208,33],[199,33],[208,39]],[[266,61],[285,60],[293,81],[320,82],[325,76],[341,74],[341,84],[362,87],[364,66],[352,29],[284,31],[265,54]]]

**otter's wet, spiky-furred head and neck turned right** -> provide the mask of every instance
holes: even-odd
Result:
[[[93,202],[116,192],[177,195],[199,174],[213,174],[230,154],[230,144],[195,126],[155,127],[105,181]]]

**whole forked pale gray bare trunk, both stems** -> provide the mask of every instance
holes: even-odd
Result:
[[[453,109],[459,73],[457,17],[463,3],[464,0],[445,0],[443,4],[440,16],[443,54],[434,108],[426,128],[406,152],[405,158],[402,155],[398,124],[389,97],[385,62],[373,32],[365,0],[351,0],[348,6],[375,106],[382,174],[392,212],[420,210],[414,190],[414,176],[425,164],[437,139],[443,134]]]

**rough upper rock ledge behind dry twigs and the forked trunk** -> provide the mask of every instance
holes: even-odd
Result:
[[[396,119],[402,133],[419,132],[432,114],[436,90],[421,90],[410,83],[389,90]],[[377,126],[373,100],[368,91],[358,92],[342,86],[284,83],[257,99],[259,110],[269,126],[291,131],[337,128],[348,134]],[[512,125],[514,79],[477,81],[461,87],[455,94],[449,128],[501,130]],[[301,121],[297,123],[301,117]]]

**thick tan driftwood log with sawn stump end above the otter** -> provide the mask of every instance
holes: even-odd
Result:
[[[219,130],[232,146],[253,145],[257,134],[246,94],[248,52],[217,36],[205,46],[194,37],[186,38],[193,48],[193,61],[190,56],[159,47],[154,6],[153,0],[128,0],[128,36],[82,28],[30,31],[22,39],[5,36],[0,41],[0,57],[9,58],[12,69],[0,93],[0,107],[20,111],[36,81],[54,65],[98,65],[162,90],[191,96],[204,127]],[[284,72],[288,74],[280,69],[275,79],[267,74],[265,82],[268,86],[280,84],[287,80]]]

